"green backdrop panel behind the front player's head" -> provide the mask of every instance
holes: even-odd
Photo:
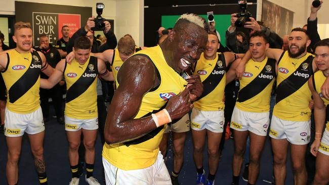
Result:
[[[207,15],[199,15],[207,20]],[[180,15],[175,16],[161,16],[161,26],[165,28],[172,28],[174,27],[177,19]],[[215,28],[221,35],[221,44],[226,47],[225,43],[225,32],[227,28],[231,25],[231,15],[214,15],[216,25]]]

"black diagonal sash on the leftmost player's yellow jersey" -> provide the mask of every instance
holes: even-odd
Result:
[[[9,54],[7,53],[8,59]],[[36,60],[37,59],[37,60]],[[8,60],[8,64],[9,64]],[[35,67],[40,65],[40,68]],[[37,81],[40,76],[42,59],[37,52],[32,53],[31,63],[25,73],[8,90],[9,102],[14,103],[21,98]]]

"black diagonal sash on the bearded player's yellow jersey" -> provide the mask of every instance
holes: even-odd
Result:
[[[307,59],[304,62],[302,62],[301,65],[289,77],[287,77],[280,84],[277,85],[276,97],[275,97],[276,104],[279,103],[281,100],[292,95],[307,82],[307,80],[313,74],[312,62],[313,62],[313,56],[308,56]],[[305,71],[306,69],[304,69],[305,63],[308,64],[306,68],[308,69],[307,71]],[[308,74],[309,77],[305,78],[305,77],[294,75],[296,71],[302,74]]]

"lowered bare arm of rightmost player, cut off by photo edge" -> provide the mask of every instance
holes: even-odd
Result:
[[[322,129],[325,122],[325,106],[320,98],[319,94],[315,91],[313,87],[313,78],[312,76],[308,80],[308,86],[312,92],[312,97],[314,100],[314,120],[315,120],[315,140],[311,145],[310,152],[316,156],[317,150],[320,146]]]

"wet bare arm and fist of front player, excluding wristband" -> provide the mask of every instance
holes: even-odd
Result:
[[[159,83],[149,59],[141,56],[130,57],[121,66],[118,81],[120,85],[114,93],[105,123],[104,136],[107,143],[124,142],[157,127],[152,116],[134,119],[143,96]],[[168,102],[166,109],[172,120],[190,111],[188,91],[186,88]]]

